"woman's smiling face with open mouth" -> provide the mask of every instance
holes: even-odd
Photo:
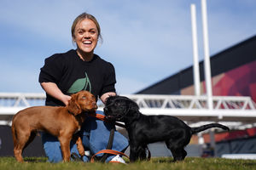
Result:
[[[98,42],[96,24],[89,19],[81,20],[75,27],[73,41],[76,42],[80,53],[93,54]]]

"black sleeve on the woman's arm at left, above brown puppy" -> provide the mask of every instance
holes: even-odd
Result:
[[[63,61],[60,54],[54,54],[44,60],[44,66],[39,74],[39,82],[55,82],[61,79]]]

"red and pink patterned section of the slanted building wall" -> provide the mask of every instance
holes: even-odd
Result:
[[[250,96],[256,102],[256,60],[212,77],[212,95]],[[206,84],[201,82],[201,94]],[[194,95],[194,85],[181,89],[183,95]]]

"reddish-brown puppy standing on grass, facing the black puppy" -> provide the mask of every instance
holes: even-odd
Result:
[[[80,156],[84,156],[84,147],[79,136],[73,134],[81,128],[86,113],[95,113],[96,98],[87,91],[71,96],[66,107],[34,106],[19,111],[12,122],[14,153],[17,161],[23,161],[22,151],[32,142],[38,131],[56,136],[61,143],[63,161],[70,160],[70,141],[76,141]]]

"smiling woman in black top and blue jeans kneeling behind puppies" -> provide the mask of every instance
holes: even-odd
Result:
[[[108,96],[115,95],[116,80],[113,65],[94,54],[98,39],[102,38],[101,28],[94,16],[83,13],[73,21],[71,32],[77,49],[50,56],[45,59],[41,68],[39,82],[46,92],[45,104],[67,105],[71,99],[70,94],[80,90],[90,91],[105,104]],[[97,113],[103,114],[101,111]],[[91,117],[86,119],[82,128],[84,146],[92,154],[106,149],[109,129],[110,125],[106,122]],[[42,141],[49,161],[61,161],[59,141],[48,133],[43,133]],[[115,132],[113,150],[125,151],[127,146],[127,139]],[[71,153],[73,152],[79,153],[75,144],[71,144]],[[116,158],[108,156],[106,161]],[[88,161],[86,156],[83,159]]]

